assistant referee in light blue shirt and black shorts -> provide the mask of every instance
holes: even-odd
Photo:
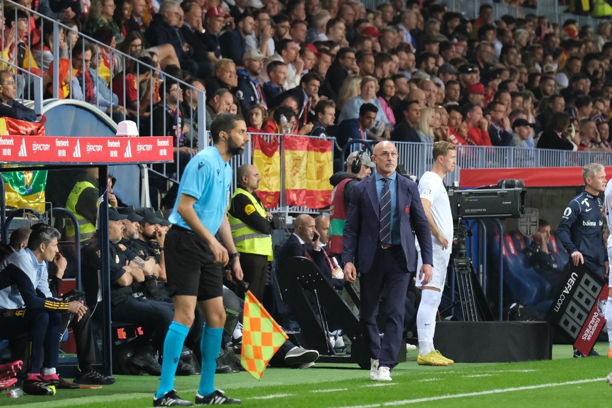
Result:
[[[174,225],[164,245],[168,284],[174,289],[174,320],[163,344],[162,377],[154,406],[193,405],[176,395],[174,374],[185,337],[193,324],[196,302],[206,322],[196,404],[241,403],[215,390],[214,377],[225,324],[223,266],[230,262],[237,280],[242,280],[226,210],[233,176],[228,162],[244,151],[248,143],[247,124],[241,116],[220,114],[212,121],[211,136],[214,146],[195,155],[185,168],[179,199],[169,218]],[[223,245],[215,238],[217,233]],[[230,255],[226,248],[231,251]]]

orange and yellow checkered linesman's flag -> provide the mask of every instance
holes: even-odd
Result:
[[[288,337],[251,291],[244,297],[242,326],[240,360],[244,369],[260,380],[267,363]]]

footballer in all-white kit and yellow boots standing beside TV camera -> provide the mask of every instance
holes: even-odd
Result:
[[[436,330],[436,314],[442,300],[446,269],[449,265],[453,240],[453,217],[450,211],[449,195],[442,179],[446,174],[455,171],[457,164],[456,146],[446,141],[433,144],[434,165],[419,180],[419,193],[425,215],[430,224],[431,243],[433,245],[433,276],[430,283],[423,285],[417,275],[416,286],[422,289],[419,311],[417,312],[417,330],[419,332],[420,365],[449,365],[450,358],[444,357],[433,346],[433,335]],[[419,247],[417,246],[417,250]],[[419,257],[419,270],[422,261]]]

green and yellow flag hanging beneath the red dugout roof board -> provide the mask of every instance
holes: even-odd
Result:
[[[7,207],[45,212],[47,170],[2,172]]]

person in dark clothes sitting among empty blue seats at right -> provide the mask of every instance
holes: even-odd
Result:
[[[563,277],[562,270],[559,269],[553,254],[548,252],[548,242],[550,242],[550,224],[540,218],[538,229],[532,237],[531,245],[526,253],[529,255],[529,263],[540,275],[550,283],[554,289]]]

